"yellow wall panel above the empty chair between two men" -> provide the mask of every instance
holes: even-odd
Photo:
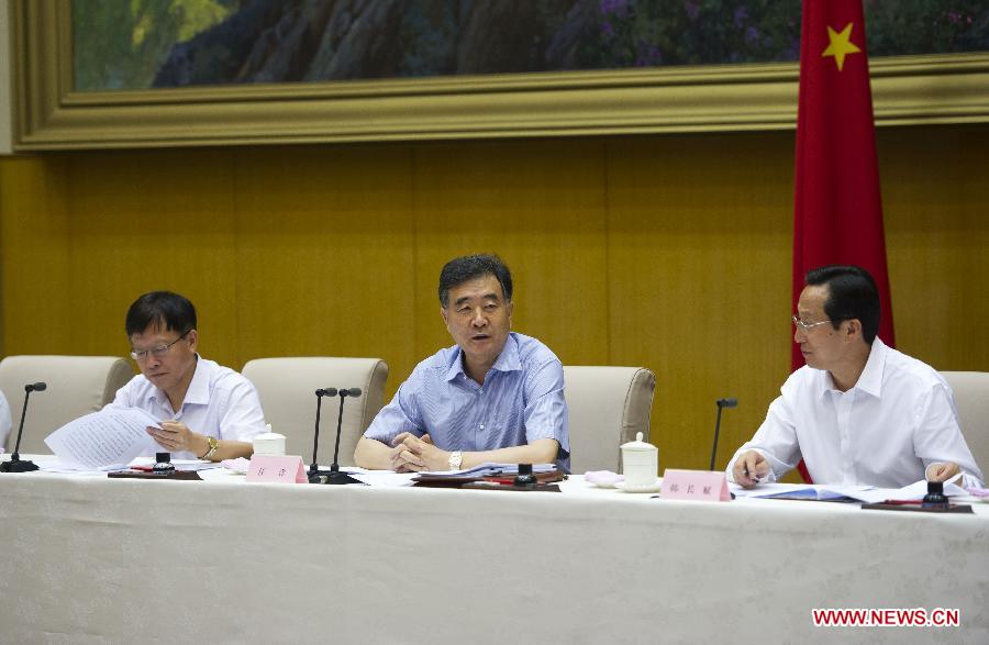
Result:
[[[411,157],[404,147],[238,156],[245,360],[379,357],[391,374],[408,374],[415,360]]]

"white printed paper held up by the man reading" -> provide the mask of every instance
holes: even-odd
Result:
[[[158,420],[144,410],[104,410],[66,423],[45,444],[59,461],[79,470],[123,468],[142,453],[162,451],[144,430],[148,426],[158,426]]]

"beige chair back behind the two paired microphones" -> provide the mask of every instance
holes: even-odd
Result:
[[[271,431],[285,435],[287,455],[312,459],[315,391],[321,388],[360,388],[360,397],[344,404],[340,464],[354,465],[357,440],[381,409],[388,365],[380,358],[305,356],[255,358],[242,371],[260,396]],[[333,461],[340,397],[324,398],[320,415],[320,464]]]

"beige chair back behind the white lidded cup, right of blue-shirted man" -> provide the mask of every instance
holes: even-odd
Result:
[[[570,427],[570,469],[621,469],[623,443],[649,441],[656,377],[642,367],[564,366]]]

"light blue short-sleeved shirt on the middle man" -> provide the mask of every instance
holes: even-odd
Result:
[[[563,364],[535,338],[509,334],[478,385],[464,372],[460,347],[415,366],[364,436],[390,445],[402,432],[429,433],[444,451],[493,451],[540,438],[559,442],[556,464],[570,469]]]

